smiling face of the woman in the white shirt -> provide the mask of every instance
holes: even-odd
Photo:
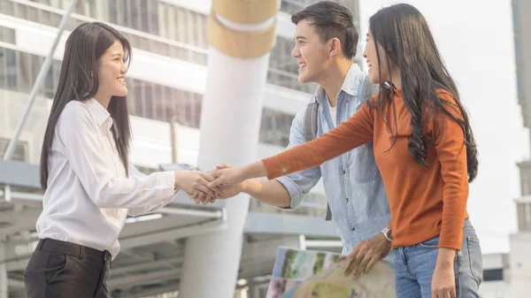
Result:
[[[127,65],[124,61],[124,54],[124,47],[121,42],[116,41],[99,58],[97,66],[99,88],[97,93],[106,96],[127,96],[125,82]]]

